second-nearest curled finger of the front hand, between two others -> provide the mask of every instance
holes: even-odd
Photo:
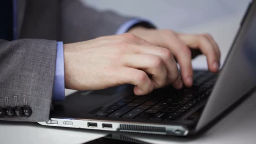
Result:
[[[167,70],[160,56],[150,54],[129,54],[122,58],[125,66],[141,69],[151,75],[154,88],[163,87],[167,82]]]

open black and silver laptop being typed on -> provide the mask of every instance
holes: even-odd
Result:
[[[194,85],[136,96],[133,85],[75,92],[39,124],[174,136],[197,135],[239,105],[256,86],[256,2],[250,3],[218,74],[194,70]]]

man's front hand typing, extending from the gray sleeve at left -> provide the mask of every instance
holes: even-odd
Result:
[[[132,84],[135,95],[145,95],[183,86],[171,51],[131,33],[65,44],[64,62],[65,87],[75,90]]]

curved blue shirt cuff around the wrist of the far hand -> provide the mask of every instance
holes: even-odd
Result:
[[[149,20],[142,20],[138,18],[134,18],[131,20],[126,21],[125,23],[121,24],[121,26],[117,29],[116,35],[126,33],[129,29],[134,26],[144,26],[147,28],[156,28]]]

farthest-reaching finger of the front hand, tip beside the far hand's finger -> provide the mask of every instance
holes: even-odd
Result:
[[[179,79],[180,74],[177,69],[177,63],[174,60],[174,57],[169,49],[158,47],[158,46],[135,46],[133,49],[135,53],[144,53],[160,56],[164,60],[165,67],[167,69],[168,79],[170,79],[171,84],[174,88],[180,89],[183,84],[182,81],[173,83]]]

